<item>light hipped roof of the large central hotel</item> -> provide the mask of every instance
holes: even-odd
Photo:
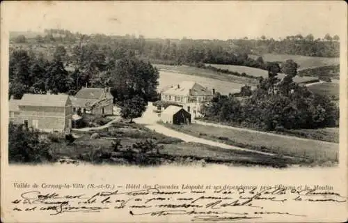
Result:
[[[181,96],[203,96],[203,95],[212,95],[212,91],[205,88],[201,84],[196,82],[184,81],[179,84],[174,84],[163,93],[170,95],[181,95]]]

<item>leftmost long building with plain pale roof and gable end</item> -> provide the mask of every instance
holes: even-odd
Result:
[[[65,132],[72,125],[72,103],[68,95],[24,94],[10,100],[10,121],[43,132]]]

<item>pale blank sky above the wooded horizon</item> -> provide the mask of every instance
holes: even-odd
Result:
[[[4,30],[68,29],[145,38],[347,35],[344,1],[5,1]]]

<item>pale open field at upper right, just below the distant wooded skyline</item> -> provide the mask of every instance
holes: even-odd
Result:
[[[292,59],[299,64],[299,70],[340,64],[340,59],[337,57],[330,58],[330,57],[300,56],[300,55],[290,55],[290,54],[263,54],[261,56],[264,61],[269,61],[269,62],[285,61],[287,59]],[[249,57],[251,57],[252,59],[258,59],[258,56],[256,55],[249,55]]]

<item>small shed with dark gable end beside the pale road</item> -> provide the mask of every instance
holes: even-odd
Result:
[[[161,113],[161,121],[175,125],[189,124],[191,123],[191,114],[182,107],[171,105]]]

